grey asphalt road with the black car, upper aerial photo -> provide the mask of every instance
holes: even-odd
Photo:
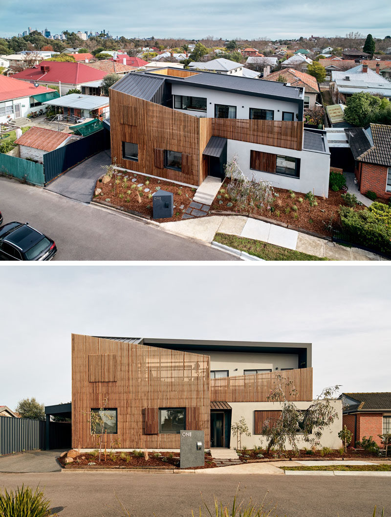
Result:
[[[55,240],[63,261],[229,261],[235,256],[158,227],[0,177],[4,223],[28,221]]]

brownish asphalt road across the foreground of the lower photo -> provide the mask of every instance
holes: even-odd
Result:
[[[208,506],[213,495],[231,504],[238,483],[240,496],[276,510],[270,517],[371,517],[391,511],[389,478],[210,474],[50,473],[0,474],[0,490],[39,483],[58,517],[131,517],[199,515],[200,492]],[[119,501],[118,501],[118,499]],[[380,511],[379,511],[380,508]],[[208,515],[202,509],[202,517]]]

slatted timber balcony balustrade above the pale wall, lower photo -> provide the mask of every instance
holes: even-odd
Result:
[[[285,397],[288,401],[312,400],[312,368],[262,372],[256,375],[236,375],[210,379],[210,400],[212,402],[267,402],[270,391],[283,379]],[[296,392],[285,383],[291,382]]]

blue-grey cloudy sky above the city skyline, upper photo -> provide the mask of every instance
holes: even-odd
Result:
[[[389,34],[389,0],[364,11],[357,2],[320,0],[287,4],[274,0],[0,0],[0,35],[27,27],[48,27],[52,34],[108,30],[114,36],[202,38],[290,38],[344,36],[350,31],[384,38]]]

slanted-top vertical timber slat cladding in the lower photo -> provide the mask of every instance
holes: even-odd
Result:
[[[179,449],[180,435],[159,434],[157,417],[159,408],[184,407],[186,429],[205,431],[209,447],[209,383],[209,356],[72,334],[72,447],[95,448],[89,412],[105,398],[118,429],[107,446]]]

